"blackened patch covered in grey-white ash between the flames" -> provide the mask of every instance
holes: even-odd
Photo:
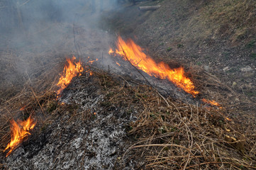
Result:
[[[107,79],[102,81],[99,75],[89,74],[74,78],[62,91],[59,103],[50,104],[48,111],[55,109],[51,118],[40,129],[33,130],[33,135],[5,159],[4,167],[114,169],[120,166],[121,157],[132,142],[127,132],[130,123],[136,120],[137,111],[135,106],[111,104],[109,96],[117,91],[106,92],[105,88],[115,84]],[[123,169],[133,169],[136,164],[138,160],[130,159]]]

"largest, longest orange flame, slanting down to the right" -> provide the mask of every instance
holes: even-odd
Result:
[[[156,63],[151,57],[145,55],[143,49],[136,45],[131,39],[125,42],[119,36],[116,46],[118,49],[116,49],[115,52],[112,49],[109,50],[108,53],[110,55],[121,55],[123,60],[129,60],[131,64],[138,69],[143,70],[143,72],[160,79],[168,79],[184,89],[187,93],[192,94],[194,97],[196,94],[199,94],[199,91],[195,90],[195,86],[191,79],[185,77],[183,67],[171,69],[169,65],[164,62]]]

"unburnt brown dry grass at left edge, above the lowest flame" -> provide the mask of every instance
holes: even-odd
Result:
[[[1,150],[4,150],[10,140],[9,122],[11,119],[26,119],[29,115],[35,115],[35,113],[41,123],[47,118],[45,108],[48,108],[48,104],[52,102],[53,98],[56,98],[55,93],[52,91],[53,87],[49,87],[49,82],[43,80],[38,80],[35,83],[38,83],[38,86],[32,87],[27,82],[22,91],[1,105]]]

